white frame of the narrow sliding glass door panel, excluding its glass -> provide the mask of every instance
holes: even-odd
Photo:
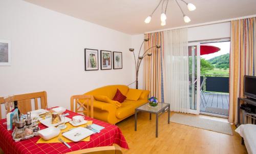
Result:
[[[190,101],[189,101],[189,110],[188,111],[190,114],[199,115],[199,113],[200,113],[200,95],[201,95],[201,92],[200,92],[200,76],[201,76],[201,74],[200,74],[200,67],[201,67],[201,65],[200,65],[200,42],[190,42],[190,43],[188,43],[188,47],[189,46],[197,46],[197,70],[195,70],[195,71],[197,71],[197,79],[194,82],[196,82],[195,86],[198,88],[196,90],[197,91],[197,104],[196,104],[197,108],[190,109]],[[193,52],[191,52],[191,54],[193,54]],[[194,83],[191,83],[191,84],[194,84]],[[191,95],[191,97],[192,97],[192,95]],[[193,102],[191,102],[191,103],[193,103]]]

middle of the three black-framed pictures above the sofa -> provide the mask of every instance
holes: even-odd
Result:
[[[100,69],[111,70],[111,51],[100,50]]]

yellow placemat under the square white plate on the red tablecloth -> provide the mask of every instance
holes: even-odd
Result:
[[[93,121],[87,121],[87,124],[91,125],[93,123]],[[87,124],[83,124],[83,125],[80,125],[80,126],[77,126],[77,127],[86,127]],[[44,140],[43,138],[40,138],[36,143],[61,143],[58,138],[61,138],[63,141],[65,142],[73,142],[65,137],[62,136],[62,132],[63,131],[67,131],[71,128],[76,128],[75,126],[72,126],[69,122],[66,123],[67,125],[67,128],[63,129],[63,130],[60,130],[60,133],[59,133],[59,136],[55,137],[55,138],[52,138],[51,140]],[[87,137],[87,138],[84,138],[82,139],[81,141],[90,141],[90,136]]]

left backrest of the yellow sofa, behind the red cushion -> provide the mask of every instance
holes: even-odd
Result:
[[[119,91],[123,95],[126,95],[129,90],[129,87],[126,85],[107,85],[87,92],[84,95],[103,95],[109,97],[110,99],[113,99],[116,95],[117,89],[119,89]]]

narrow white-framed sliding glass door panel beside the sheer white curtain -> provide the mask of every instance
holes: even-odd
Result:
[[[189,113],[200,112],[200,43],[188,44]]]

